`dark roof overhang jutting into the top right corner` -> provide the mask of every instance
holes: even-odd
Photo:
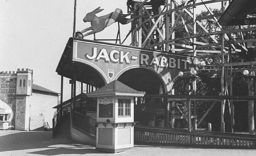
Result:
[[[256,0],[232,0],[218,23],[222,26],[255,25]]]

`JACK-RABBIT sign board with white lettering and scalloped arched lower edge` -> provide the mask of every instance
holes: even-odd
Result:
[[[75,39],[72,61],[83,62],[95,68],[107,83],[117,80],[127,70],[145,68],[155,72],[166,86],[171,83],[170,77],[174,78],[180,71],[196,70],[198,64],[197,57]]]

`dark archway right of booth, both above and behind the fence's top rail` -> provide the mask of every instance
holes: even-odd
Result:
[[[133,68],[122,73],[118,81],[146,94],[164,94],[166,85],[160,75],[147,68]],[[134,121],[139,125],[162,126],[166,120],[165,101],[162,98],[134,98]],[[158,112],[161,112],[159,114]]]

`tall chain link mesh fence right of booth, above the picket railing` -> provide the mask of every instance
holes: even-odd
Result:
[[[221,132],[221,101],[189,101],[164,98],[134,98],[134,121],[137,125]],[[248,101],[233,101],[235,133],[249,133]],[[254,116],[256,111],[254,109]],[[225,132],[232,132],[230,104],[225,103]],[[255,125],[255,123],[254,123]]]

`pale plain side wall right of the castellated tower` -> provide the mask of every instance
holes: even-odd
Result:
[[[57,102],[57,94],[32,93],[32,96],[27,97],[29,117],[44,116],[44,122],[48,122],[50,128],[52,128],[52,118],[56,111],[52,107],[56,106]]]

